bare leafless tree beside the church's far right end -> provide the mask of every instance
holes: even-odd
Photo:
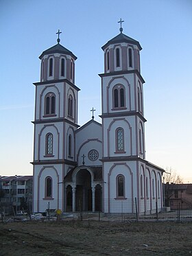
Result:
[[[182,184],[182,177],[171,167],[165,168],[165,173],[163,174],[163,186],[165,191],[165,206],[170,206],[170,198],[173,196],[174,187],[176,184]]]

